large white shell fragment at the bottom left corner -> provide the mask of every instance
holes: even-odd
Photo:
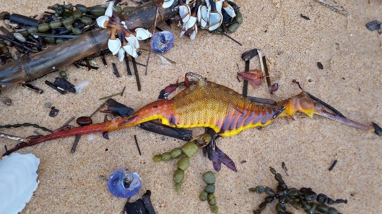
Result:
[[[17,214],[31,200],[39,181],[40,159],[31,153],[12,153],[0,161],[0,214]]]

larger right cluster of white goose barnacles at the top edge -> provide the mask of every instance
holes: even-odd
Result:
[[[162,7],[170,7],[174,1],[163,0]],[[217,29],[223,22],[222,9],[232,18],[235,17],[235,10],[228,1],[231,0],[181,0],[179,15],[183,24],[180,36],[187,33],[194,39],[197,34],[197,24],[201,29]]]

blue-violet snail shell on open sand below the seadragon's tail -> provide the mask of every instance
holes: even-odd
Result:
[[[142,187],[142,179],[138,173],[119,168],[110,173],[107,179],[109,192],[118,198],[128,198],[136,195]]]

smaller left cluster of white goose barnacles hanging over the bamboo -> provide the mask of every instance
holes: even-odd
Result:
[[[113,2],[109,2],[105,15],[97,18],[97,24],[102,28],[110,28],[111,35],[107,45],[113,55],[118,54],[120,62],[125,58],[125,52],[136,58],[139,48],[138,40],[145,40],[152,36],[148,30],[143,28],[137,28],[134,32],[129,30],[126,23],[121,21],[117,11],[114,10]]]

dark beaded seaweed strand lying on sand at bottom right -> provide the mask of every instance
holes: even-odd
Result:
[[[254,214],[261,213],[267,204],[270,204],[272,201],[277,201],[275,206],[275,211],[277,213],[290,213],[287,211],[286,206],[289,204],[295,209],[303,209],[306,213],[315,214],[315,213],[324,213],[324,214],[340,214],[337,209],[327,206],[326,204],[335,204],[335,203],[347,203],[347,200],[337,199],[333,200],[328,196],[320,193],[316,194],[312,191],[312,188],[288,188],[285,184],[281,174],[277,173],[276,170],[270,167],[270,171],[274,174],[275,180],[278,182],[276,190],[273,190],[270,187],[265,187],[259,185],[254,188],[249,188],[249,192],[262,194],[265,192],[267,195],[264,198],[264,201],[260,203],[259,207],[253,211]],[[317,202],[315,202],[317,201]]]

